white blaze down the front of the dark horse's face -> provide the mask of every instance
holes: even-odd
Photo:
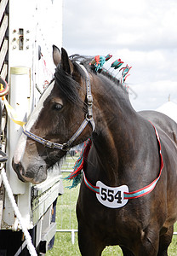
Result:
[[[31,113],[31,117],[27,122],[27,125],[26,125],[27,131],[30,131],[32,125],[34,125],[35,122],[37,121],[38,116],[43,109],[43,102],[45,102],[45,100],[48,98],[48,96],[50,95],[53,88],[54,88],[54,82],[49,85],[47,90],[44,91],[43,96],[41,96],[39,102],[37,103],[37,107]],[[25,148],[26,148],[26,139],[27,139],[26,135],[22,133],[22,135],[20,136],[19,143],[17,144],[17,147],[14,152],[14,163],[15,164],[18,164],[23,157],[23,154],[24,154]]]

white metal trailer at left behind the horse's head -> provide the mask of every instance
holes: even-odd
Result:
[[[27,121],[52,79],[52,44],[62,44],[62,0],[0,1],[0,74],[9,83],[6,97],[21,121]],[[21,132],[3,111],[2,147],[9,157],[4,169],[37,253],[45,253],[56,230],[56,200],[63,193],[60,164],[41,184],[20,182],[11,160]],[[0,184],[0,255],[29,255],[1,180]]]

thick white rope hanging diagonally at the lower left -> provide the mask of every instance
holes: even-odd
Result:
[[[33,246],[32,241],[31,241],[31,236],[26,228],[26,223],[25,223],[24,219],[22,218],[19,208],[14,200],[14,195],[13,195],[12,189],[10,188],[9,181],[6,176],[6,172],[4,171],[4,168],[1,171],[1,175],[2,175],[2,179],[3,179],[4,187],[7,191],[8,197],[9,197],[9,201],[14,209],[14,213],[15,213],[16,217],[19,219],[21,229],[26,237],[26,245],[27,245],[28,251],[31,256],[37,256],[37,252],[36,252],[35,247]]]

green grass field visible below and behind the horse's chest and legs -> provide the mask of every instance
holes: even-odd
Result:
[[[77,158],[66,158],[66,163],[62,166],[62,169],[71,169],[74,166],[74,162]],[[66,177],[68,173],[63,173],[63,177]],[[76,189],[67,189],[71,183],[64,180],[64,195],[58,198],[57,202],[57,230],[77,230],[77,218],[76,218],[76,203],[79,186]],[[177,224],[175,224],[175,231],[177,232]],[[77,232],[75,233],[75,242],[71,242],[71,232],[57,232],[54,240],[54,247],[46,254],[54,256],[77,256],[79,253],[77,245]],[[103,256],[122,256],[121,249],[116,247],[106,247]],[[173,241],[168,248],[168,256],[177,255],[177,235],[173,237]]]

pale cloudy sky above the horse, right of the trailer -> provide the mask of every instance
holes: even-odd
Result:
[[[126,81],[136,110],[156,109],[169,95],[177,103],[176,24],[176,0],[63,0],[63,47],[132,66]]]

